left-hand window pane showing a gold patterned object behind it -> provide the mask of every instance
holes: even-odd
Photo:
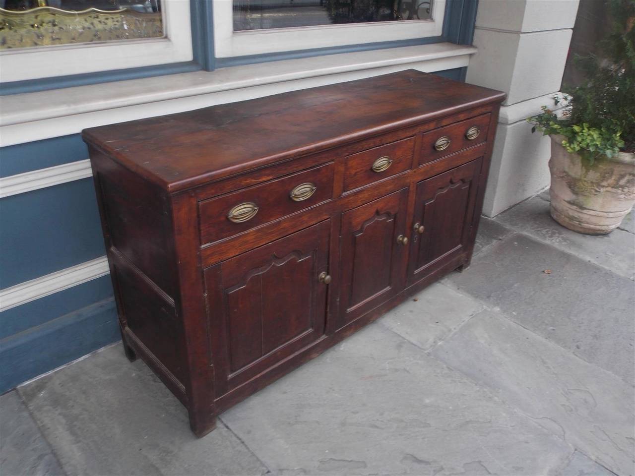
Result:
[[[0,50],[163,37],[161,0],[0,0]]]

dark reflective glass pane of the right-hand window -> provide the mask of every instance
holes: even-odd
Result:
[[[234,31],[431,20],[433,0],[234,0]]]

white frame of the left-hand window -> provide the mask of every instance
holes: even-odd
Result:
[[[161,10],[163,38],[4,50],[0,52],[0,79],[10,83],[192,61],[190,1],[163,0]]]

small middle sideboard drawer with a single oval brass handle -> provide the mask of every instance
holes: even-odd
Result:
[[[409,137],[348,155],[344,172],[344,191],[410,169],[414,147],[415,138]]]

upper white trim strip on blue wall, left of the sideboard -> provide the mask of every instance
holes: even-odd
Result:
[[[88,159],[0,178],[0,198],[92,176]]]

